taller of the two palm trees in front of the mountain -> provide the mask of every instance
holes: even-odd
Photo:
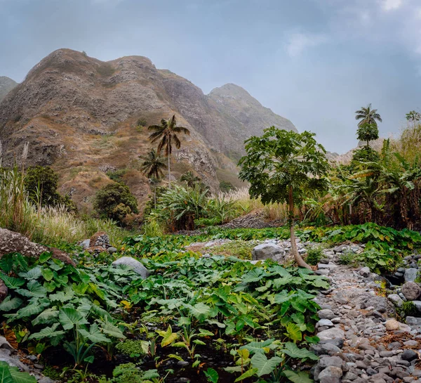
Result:
[[[149,140],[152,143],[159,141],[158,153],[161,153],[161,150],[165,148],[165,155],[168,157],[168,184],[171,185],[170,157],[173,151],[173,143],[175,148],[180,149],[181,142],[177,133],[189,135],[190,131],[183,126],[177,126],[175,115],[168,120],[161,119],[161,125],[151,125],[148,129],[154,131],[154,133],[149,135]]]

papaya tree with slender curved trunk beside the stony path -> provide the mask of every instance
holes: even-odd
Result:
[[[250,183],[250,197],[260,197],[263,204],[288,203],[291,252],[298,266],[309,269],[295,244],[294,205],[301,205],[310,193],[327,190],[326,150],[314,136],[271,126],[263,136],[246,141],[247,155],[239,161],[239,178]]]

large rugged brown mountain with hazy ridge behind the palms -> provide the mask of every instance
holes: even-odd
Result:
[[[0,103],[3,161],[20,159],[29,143],[27,164],[53,166],[60,190],[79,208],[91,208],[95,190],[109,183],[110,175],[142,202],[149,186],[138,170],[140,156],[151,145],[147,128],[138,122],[159,124],[172,115],[191,131],[174,151],[174,176],[193,169],[212,190],[220,181],[241,185],[236,159],[246,138],[272,124],[295,129],[239,86],[227,84],[205,95],[142,56],[102,62],[59,49]]]

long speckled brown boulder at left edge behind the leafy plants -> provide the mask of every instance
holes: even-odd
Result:
[[[38,243],[31,242],[20,233],[0,228],[0,258],[5,254],[15,252],[20,253],[25,257],[35,258],[38,258],[44,252],[51,252],[53,258],[60,259],[60,261],[65,262],[65,264],[74,266],[72,259],[60,249],[39,245]]]

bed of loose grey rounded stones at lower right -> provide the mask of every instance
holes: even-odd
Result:
[[[320,360],[313,368],[321,383],[414,382],[421,377],[421,318],[394,319],[394,305],[378,294],[379,275],[367,268],[319,264],[331,287],[316,298]],[[326,266],[329,266],[326,268]],[[377,281],[376,281],[377,280]]]

